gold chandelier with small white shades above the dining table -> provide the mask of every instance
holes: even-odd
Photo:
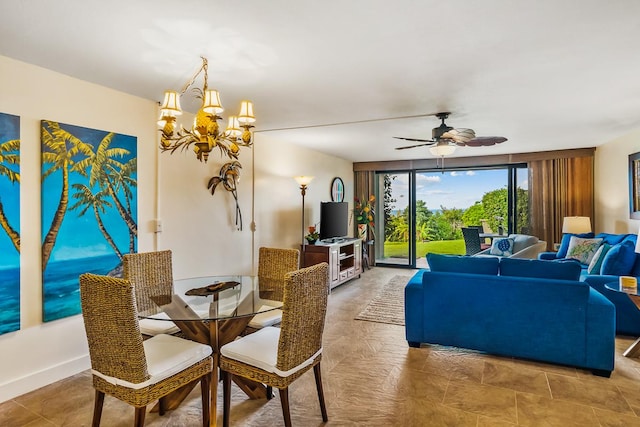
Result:
[[[226,155],[230,159],[237,160],[240,147],[250,147],[253,144],[251,128],[256,121],[253,115],[253,104],[251,101],[242,101],[240,113],[237,116],[229,116],[227,128],[220,132],[218,122],[222,117],[219,114],[224,111],[224,108],[218,91],[208,87],[208,62],[206,58],[201,58],[202,66],[180,92],[168,90],[164,93],[158,120],[161,133],[160,149],[173,154],[179,148],[185,150],[193,146],[198,160],[206,163],[209,153],[214,148],[218,148],[222,156]],[[182,114],[180,97],[193,86],[200,74],[204,74],[202,89],[194,87],[192,90],[196,98],[202,99],[202,107],[196,113],[190,129],[182,125],[176,129],[177,117]]]

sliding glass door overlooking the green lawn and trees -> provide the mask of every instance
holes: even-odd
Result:
[[[462,227],[529,229],[526,165],[376,174],[376,264],[426,267],[427,253],[466,253]]]

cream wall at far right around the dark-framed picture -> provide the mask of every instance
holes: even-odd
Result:
[[[595,155],[595,232],[637,233],[629,219],[629,154],[640,151],[640,130],[607,142]]]

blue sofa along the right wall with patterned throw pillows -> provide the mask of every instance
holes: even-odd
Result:
[[[542,252],[539,259],[569,261],[566,258],[569,242],[573,234],[563,234],[558,252]],[[589,273],[586,264],[581,264],[581,280],[604,295],[616,307],[616,333],[622,335],[640,336],[640,311],[628,296],[612,291],[605,287],[606,284],[618,282],[620,276],[634,276],[640,281],[640,254],[635,252],[637,240],[636,234],[612,234],[599,233],[596,235],[577,235],[584,238],[602,239],[602,244],[607,244],[610,249],[606,269]],[[606,255],[605,255],[606,258]]]

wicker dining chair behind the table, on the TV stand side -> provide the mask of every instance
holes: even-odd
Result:
[[[267,248],[258,250],[258,288],[260,298],[282,301],[284,289],[284,275],[298,269],[300,251],[297,249]],[[256,314],[247,332],[255,332],[266,326],[273,326],[282,321],[282,310],[268,310]]]

